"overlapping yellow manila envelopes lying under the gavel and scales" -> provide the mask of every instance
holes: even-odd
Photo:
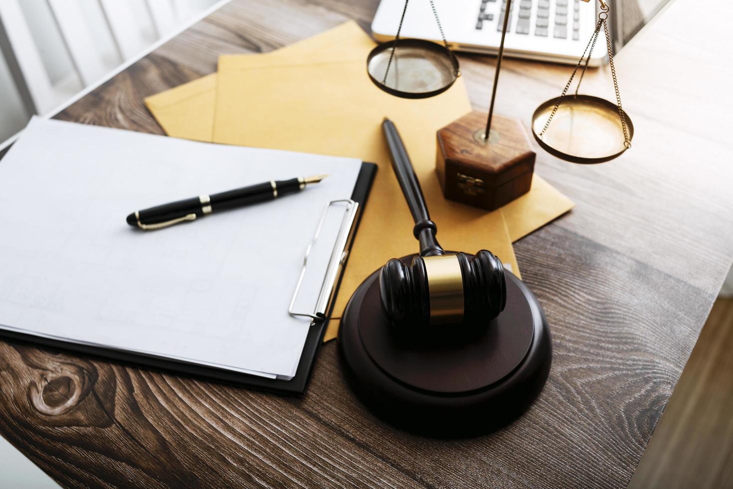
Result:
[[[531,191],[500,210],[443,199],[435,175],[435,132],[471,110],[461,78],[434,98],[382,92],[366,73],[374,41],[356,23],[269,54],[220,56],[218,73],[147,98],[170,136],[348,156],[380,167],[325,339],[358,284],[393,257],[417,251],[413,221],[381,133],[395,122],[445,249],[489,249],[519,275],[512,241],[567,212],[572,202],[538,175]]]

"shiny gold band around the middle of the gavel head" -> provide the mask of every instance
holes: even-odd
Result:
[[[463,276],[454,254],[424,257],[430,295],[430,324],[463,320]]]

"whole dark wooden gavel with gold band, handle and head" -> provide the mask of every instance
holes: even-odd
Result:
[[[485,324],[507,304],[504,266],[490,251],[475,255],[446,252],[435,238],[438,227],[427,205],[405,145],[391,120],[382,123],[392,168],[405,194],[415,226],[420,254],[410,265],[389,260],[379,273],[383,311],[398,328],[462,323]]]

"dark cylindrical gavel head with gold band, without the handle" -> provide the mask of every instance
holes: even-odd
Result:
[[[487,323],[507,304],[507,279],[501,260],[485,249],[392,259],[379,273],[382,308],[394,326]]]

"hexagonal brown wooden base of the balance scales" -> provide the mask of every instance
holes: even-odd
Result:
[[[512,117],[494,114],[486,141],[486,117],[473,111],[438,130],[435,171],[446,199],[494,210],[529,191],[536,154]]]

